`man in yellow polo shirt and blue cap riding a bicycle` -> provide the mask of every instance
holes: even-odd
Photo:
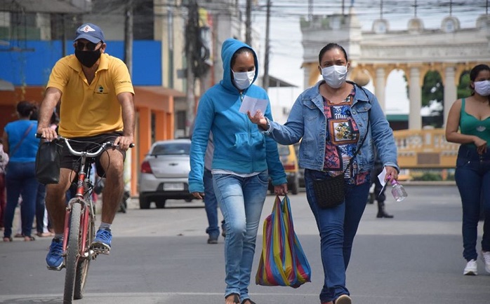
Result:
[[[50,127],[50,118],[60,101],[58,132],[62,137],[76,140],[71,142],[75,150],[91,151],[100,144],[114,141],[114,147],[96,159],[97,173],[106,178],[106,183],[102,192],[102,222],[91,245],[95,252],[109,254],[111,224],[124,193],[123,164],[126,150],[133,143],[135,111],[128,69],[118,58],[105,54],[104,40],[102,29],[96,25],[87,23],[77,29],[74,55],[62,57],[51,71],[37,132],[47,141],[58,136]],[[46,208],[55,230],[46,256],[51,270],[60,270],[63,266],[65,193],[77,178],[78,159],[63,146],[60,181],[46,185]]]

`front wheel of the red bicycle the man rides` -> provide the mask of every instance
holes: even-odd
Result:
[[[65,293],[63,303],[72,303],[75,286],[75,275],[77,274],[77,262],[79,259],[79,235],[80,235],[81,204],[72,204],[72,212],[69,223],[69,239],[67,244],[67,268],[65,274]]]

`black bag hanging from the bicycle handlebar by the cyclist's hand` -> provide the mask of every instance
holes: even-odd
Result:
[[[58,184],[60,181],[60,144],[45,141],[36,154],[36,179],[41,184]]]

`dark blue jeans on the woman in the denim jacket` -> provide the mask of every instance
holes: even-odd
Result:
[[[329,209],[321,209],[314,197],[313,181],[326,173],[305,170],[306,198],[312,209],[320,233],[320,250],[324,268],[324,286],[320,293],[322,303],[349,295],[345,286],[345,270],[350,261],[352,242],[366,207],[370,183],[345,184],[345,202]]]

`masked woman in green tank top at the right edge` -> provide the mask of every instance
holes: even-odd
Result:
[[[470,97],[456,100],[449,110],[446,140],[461,144],[454,179],[463,206],[463,275],[477,275],[477,226],[480,200],[484,224],[482,259],[490,273],[490,67],[470,71]]]

